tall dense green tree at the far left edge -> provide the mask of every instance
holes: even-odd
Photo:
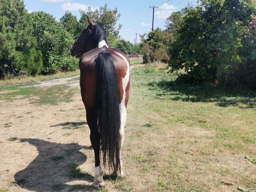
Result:
[[[42,54],[32,37],[31,15],[21,0],[0,2],[0,79],[35,75],[42,70]]]

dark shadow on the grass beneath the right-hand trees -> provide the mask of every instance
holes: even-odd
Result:
[[[185,102],[217,102],[217,106],[239,106],[241,108],[254,108],[256,105],[256,94],[252,90],[231,89],[217,87],[211,84],[202,86],[191,86],[177,81],[153,81],[148,86],[160,90],[156,96],[170,96],[171,100],[182,100]],[[245,106],[240,106],[241,103]]]

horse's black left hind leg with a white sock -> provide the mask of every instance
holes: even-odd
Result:
[[[97,128],[97,110],[94,107],[86,108],[86,118],[88,126],[91,130],[90,139],[95,155],[95,177],[93,181],[93,187],[98,188],[99,186],[105,186],[105,183],[103,180],[104,172],[100,166],[100,135]]]

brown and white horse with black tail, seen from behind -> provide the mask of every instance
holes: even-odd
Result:
[[[93,187],[98,188],[105,186],[100,159],[104,168],[108,161],[113,175],[124,177],[121,149],[131,91],[130,60],[120,50],[109,48],[100,22],[87,19],[89,25],[70,51],[72,56],[81,57],[80,89],[95,154]]]

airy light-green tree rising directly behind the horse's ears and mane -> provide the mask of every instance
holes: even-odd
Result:
[[[79,20],[82,29],[88,25],[87,14],[91,18],[95,18],[96,21],[100,22],[106,31],[108,37],[109,46],[112,47],[115,41],[119,38],[119,32],[122,27],[121,24],[117,26],[121,14],[117,11],[117,8],[109,9],[107,4],[104,7],[100,7],[93,11],[91,7],[88,7],[87,12],[80,11],[81,18]],[[82,31],[82,30],[81,30]]]

